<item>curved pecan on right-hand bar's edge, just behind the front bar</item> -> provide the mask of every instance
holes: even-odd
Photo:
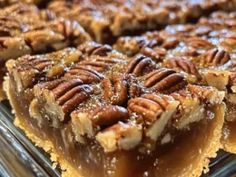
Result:
[[[170,58],[165,61],[165,66],[173,69],[180,69],[186,73],[195,75],[198,79],[201,78],[196,66],[190,60],[181,57]]]

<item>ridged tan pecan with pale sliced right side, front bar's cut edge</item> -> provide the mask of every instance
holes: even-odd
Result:
[[[153,141],[161,135],[177,106],[172,97],[157,94],[146,94],[128,102],[129,112],[144,124],[146,136]]]

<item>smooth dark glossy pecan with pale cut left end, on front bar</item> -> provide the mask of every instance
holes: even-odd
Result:
[[[127,109],[121,106],[104,105],[85,111],[75,111],[71,115],[72,125],[79,136],[93,137],[101,128],[106,128],[119,121],[128,119]]]

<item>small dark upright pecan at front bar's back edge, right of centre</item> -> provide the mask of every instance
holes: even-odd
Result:
[[[138,55],[130,60],[126,73],[132,73],[135,76],[141,76],[145,72],[155,68],[155,63],[151,58]]]

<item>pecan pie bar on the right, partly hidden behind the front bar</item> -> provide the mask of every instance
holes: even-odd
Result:
[[[225,91],[227,105],[222,143],[236,153],[236,14],[215,12],[195,25],[172,25],[141,36],[121,37],[114,45],[129,56],[144,54],[183,73],[190,83]]]

